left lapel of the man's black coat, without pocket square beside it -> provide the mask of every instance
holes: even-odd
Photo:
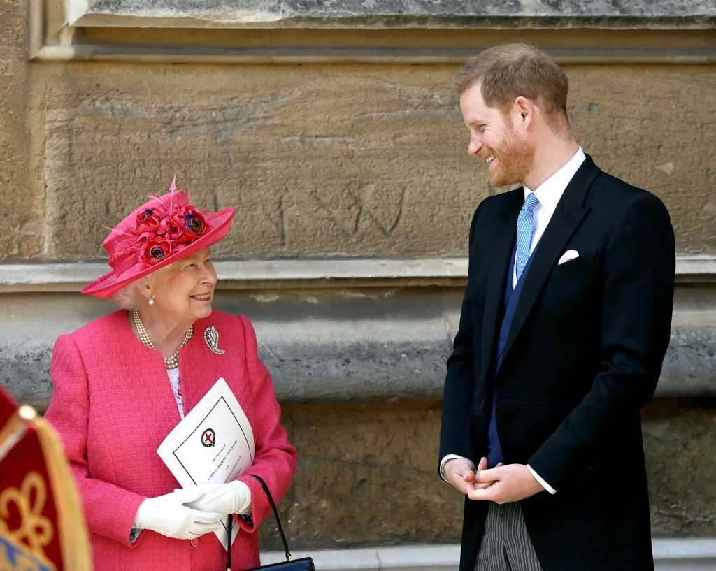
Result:
[[[493,360],[495,340],[498,335],[498,319],[500,306],[505,294],[505,279],[510,265],[510,255],[515,243],[517,216],[524,202],[522,187],[508,192],[505,204],[495,217],[495,230],[489,241],[488,256],[493,263],[488,264],[487,283],[485,287],[485,315],[482,331],[482,363],[483,379],[490,370]]]

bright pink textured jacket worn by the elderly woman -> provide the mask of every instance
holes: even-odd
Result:
[[[204,341],[212,325],[223,355]],[[197,321],[191,341],[179,353],[179,371],[185,413],[216,379],[226,379],[253,429],[251,472],[266,481],[278,501],[296,471],[296,451],[280,424],[274,386],[258,359],[248,319],[213,311]],[[160,353],[135,338],[125,311],[57,339],[52,380],[54,394],[45,417],[62,437],[77,480],[95,571],[223,569],[226,550],[213,534],[189,542],[145,530],[130,543],[142,500],[179,487],[156,450],[180,417]],[[259,565],[256,526],[271,514],[256,479],[240,479],[251,489],[253,525],[235,519],[241,531],[231,550],[234,570]]]

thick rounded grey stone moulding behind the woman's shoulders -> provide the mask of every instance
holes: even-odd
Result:
[[[460,288],[218,293],[250,316],[284,404],[440,401],[460,318]],[[657,397],[716,395],[716,311],[679,302]],[[55,339],[112,311],[76,294],[0,296],[0,383],[44,410]],[[51,316],[51,318],[47,318]]]

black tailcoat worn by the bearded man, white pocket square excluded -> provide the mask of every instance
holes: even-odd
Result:
[[[557,490],[523,500],[544,571],[653,570],[639,409],[669,344],[674,232],[657,197],[588,156],[526,274],[492,379],[523,190],[488,197],[470,228],[470,270],[448,359],[440,458],[487,456],[490,391],[507,463]],[[566,250],[579,258],[558,265]],[[487,502],[465,501],[460,571],[472,571]]]

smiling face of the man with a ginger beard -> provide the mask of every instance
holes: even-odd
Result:
[[[468,155],[485,160],[490,185],[495,187],[523,182],[534,165],[535,150],[520,125],[518,109],[503,113],[488,107],[477,83],[460,96],[460,109],[470,129]]]

